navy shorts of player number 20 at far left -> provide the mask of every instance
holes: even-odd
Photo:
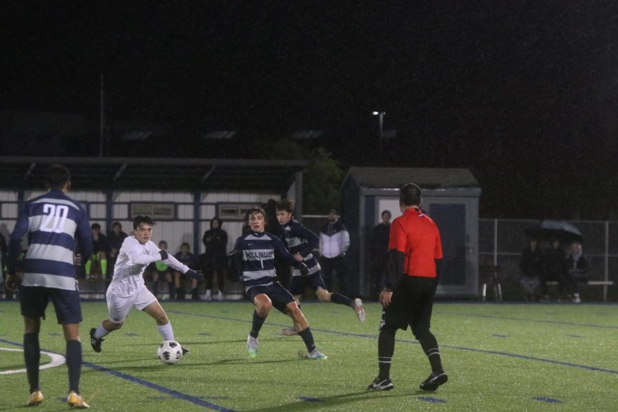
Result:
[[[43,288],[43,286],[19,286],[21,314],[30,319],[45,319],[45,308],[52,301],[58,324],[69,325],[82,321],[82,306],[79,290]]]

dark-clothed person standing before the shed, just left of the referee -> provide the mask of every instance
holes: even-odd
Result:
[[[372,300],[380,295],[386,282],[386,268],[389,260],[389,231],[391,230],[391,211],[383,210],[380,218],[382,222],[371,230],[371,279],[369,294]]]

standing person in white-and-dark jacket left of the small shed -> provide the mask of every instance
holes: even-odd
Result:
[[[339,293],[345,295],[347,283],[345,252],[350,247],[350,233],[347,232],[343,223],[337,218],[337,211],[335,209],[330,209],[328,222],[323,225],[320,231],[319,246],[320,263],[326,288],[331,290],[332,279],[334,273],[336,273],[339,278]]]

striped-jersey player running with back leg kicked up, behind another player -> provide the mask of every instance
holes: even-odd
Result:
[[[323,302],[332,302],[334,304],[350,306],[356,312],[358,320],[365,321],[365,310],[363,309],[363,301],[361,299],[350,299],[341,293],[330,293],[324,284],[320,274],[320,264],[312,255],[313,249],[318,247],[318,236],[301,225],[298,220],[292,218],[293,203],[288,199],[283,199],[277,203],[277,220],[281,225],[284,233],[284,239],[288,245],[290,253],[299,262],[304,262],[308,268],[307,275],[301,275],[298,269],[292,271],[292,282],[290,282],[290,293],[294,296],[297,304],[300,307],[300,295],[305,291],[306,286],[311,286],[317,295],[318,299]],[[286,328],[283,334],[291,336],[296,334],[294,327]]]

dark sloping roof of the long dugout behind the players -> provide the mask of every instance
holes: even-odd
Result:
[[[41,189],[45,168],[71,171],[73,190],[274,190],[290,186],[302,160],[2,157],[0,188]]]

